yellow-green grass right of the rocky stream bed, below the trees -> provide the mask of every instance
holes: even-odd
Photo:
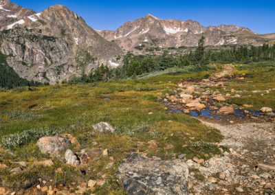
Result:
[[[252,104],[253,109],[259,110],[264,106],[270,107],[275,110],[275,91],[270,93],[253,93],[252,91],[270,90],[275,86],[275,62],[257,62],[248,65],[237,65],[234,71],[235,74],[245,73],[244,80],[232,80],[228,82],[227,87],[230,92],[231,89],[236,91],[243,91],[241,98],[230,98],[230,104]],[[263,95],[262,95],[263,94]],[[234,94],[233,94],[234,95]]]

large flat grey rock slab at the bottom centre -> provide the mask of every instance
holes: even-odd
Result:
[[[181,159],[162,161],[131,154],[118,176],[128,194],[188,194],[188,165]]]

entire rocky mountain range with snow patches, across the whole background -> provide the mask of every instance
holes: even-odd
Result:
[[[137,47],[194,47],[201,36],[206,45],[263,45],[274,34],[259,35],[246,27],[203,27],[197,21],[162,20],[148,14],[115,31],[93,30],[63,5],[43,12],[0,0],[0,51],[22,78],[54,84],[89,73],[101,65],[117,67],[126,51]]]

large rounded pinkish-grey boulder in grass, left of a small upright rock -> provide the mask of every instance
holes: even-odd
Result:
[[[71,142],[64,137],[41,137],[36,145],[43,154],[59,155],[71,146]]]

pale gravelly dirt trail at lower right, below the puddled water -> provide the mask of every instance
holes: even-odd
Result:
[[[203,122],[203,121],[202,121]],[[199,194],[272,194],[275,188],[275,126],[271,123],[224,125],[203,122],[224,136],[222,146],[230,148],[225,157],[206,162],[217,182],[197,183]],[[219,162],[219,167],[214,164]],[[270,169],[259,164],[272,165]],[[225,172],[225,176],[223,176]],[[209,179],[209,178],[208,178]],[[197,189],[196,189],[197,187]]]

